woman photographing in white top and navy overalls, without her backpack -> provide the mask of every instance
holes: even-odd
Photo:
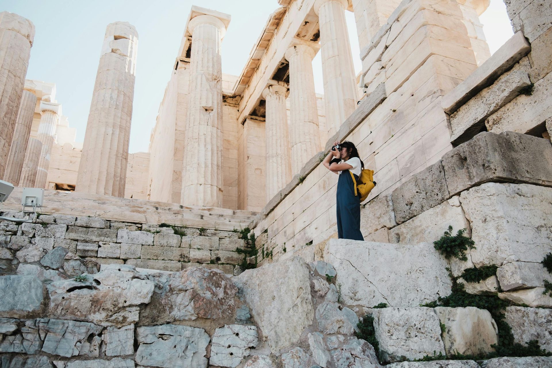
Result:
[[[364,168],[364,163],[358,156],[357,148],[351,142],[334,142],[335,150],[330,151],[322,163],[324,166],[339,174],[337,181],[337,236],[339,239],[364,240],[360,233],[360,197],[354,195],[354,179]],[[332,159],[332,157],[335,157]]]

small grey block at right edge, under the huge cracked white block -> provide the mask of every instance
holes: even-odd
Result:
[[[542,263],[511,262],[499,267],[496,276],[503,291],[544,287],[544,281],[552,282],[552,275]]]

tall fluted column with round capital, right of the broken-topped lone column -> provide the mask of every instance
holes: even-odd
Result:
[[[188,23],[190,89],[184,131],[181,204],[222,206],[222,70],[226,26],[213,15]]]

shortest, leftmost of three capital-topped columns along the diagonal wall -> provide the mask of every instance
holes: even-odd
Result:
[[[273,85],[263,91],[266,100],[266,196],[267,202],[291,180],[288,111],[285,100],[288,88]]]

